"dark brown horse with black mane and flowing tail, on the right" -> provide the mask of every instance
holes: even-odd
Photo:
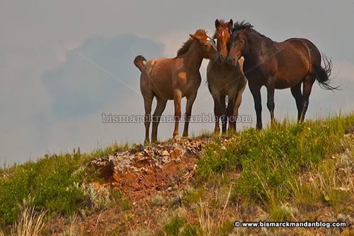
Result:
[[[244,56],[244,72],[249,80],[256,109],[256,128],[262,128],[261,86],[268,91],[267,107],[270,120],[274,121],[274,90],[290,88],[297,106],[297,120],[304,120],[312,84],[315,80],[328,90],[338,89],[330,85],[331,60],[323,56],[317,47],[304,38],[290,38],[276,43],[261,35],[249,23],[235,23],[229,38],[228,61],[236,65],[239,57]],[[302,90],[301,91],[301,85]]]

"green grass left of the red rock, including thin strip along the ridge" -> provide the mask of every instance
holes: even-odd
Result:
[[[1,169],[0,225],[15,223],[23,202],[29,200],[29,207],[47,210],[49,215],[73,215],[86,208],[88,202],[92,208],[105,208],[108,195],[112,196],[113,193],[103,193],[86,184],[101,181],[98,173],[87,164],[91,158],[112,152],[113,149],[117,150],[118,146],[95,150],[90,154],[46,154],[37,162]]]

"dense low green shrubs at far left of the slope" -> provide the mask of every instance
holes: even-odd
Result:
[[[0,224],[14,223],[23,199],[33,197],[33,206],[71,215],[84,200],[78,184],[84,180],[80,155],[46,156],[6,170],[0,179]]]

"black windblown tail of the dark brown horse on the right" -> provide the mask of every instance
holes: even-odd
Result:
[[[314,72],[316,73],[316,80],[319,82],[319,86],[322,89],[337,90],[339,86],[331,86],[332,61],[329,57],[326,57],[326,55],[322,55],[322,60],[324,61],[324,67],[322,67],[321,64],[312,62]]]

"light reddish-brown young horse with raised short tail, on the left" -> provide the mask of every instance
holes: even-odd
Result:
[[[142,72],[140,90],[144,97],[145,142],[149,142],[149,126],[152,120],[152,142],[157,140],[157,126],[168,100],[174,101],[175,128],[173,138],[178,137],[178,122],[181,118],[181,99],[186,97],[185,124],[183,136],[188,136],[188,124],[193,102],[200,86],[200,64],[203,58],[214,59],[218,52],[214,40],[205,30],[197,30],[190,35],[174,58],[156,58],[149,60],[141,55],[135,57],[134,64]],[[152,100],[156,97],[157,105],[151,117]]]

